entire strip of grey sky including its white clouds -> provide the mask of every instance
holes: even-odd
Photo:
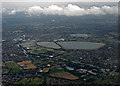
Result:
[[[116,15],[118,12],[117,3],[108,2],[4,2],[2,3],[2,13],[15,15],[23,12],[26,15]]]

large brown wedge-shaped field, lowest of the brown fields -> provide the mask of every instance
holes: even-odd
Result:
[[[70,79],[70,80],[79,79],[77,76],[74,76],[74,75],[72,75],[71,73],[68,73],[68,72],[54,73],[54,74],[51,74],[51,76],[52,77],[57,77],[57,78]]]

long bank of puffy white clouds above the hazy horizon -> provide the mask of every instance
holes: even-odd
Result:
[[[77,5],[68,4],[67,6],[60,7],[57,5],[50,5],[49,7],[32,6],[29,8],[24,8],[23,10],[11,10],[7,13],[9,15],[14,15],[17,12],[23,11],[27,15],[65,15],[65,16],[83,16],[83,15],[106,15],[106,14],[117,14],[117,6],[92,6],[90,8],[81,8]],[[6,12],[6,9],[3,9]]]

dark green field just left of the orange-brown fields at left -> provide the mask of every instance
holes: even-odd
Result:
[[[5,65],[8,67],[10,74],[18,73],[21,71],[20,66],[17,65],[15,62],[7,62]]]

